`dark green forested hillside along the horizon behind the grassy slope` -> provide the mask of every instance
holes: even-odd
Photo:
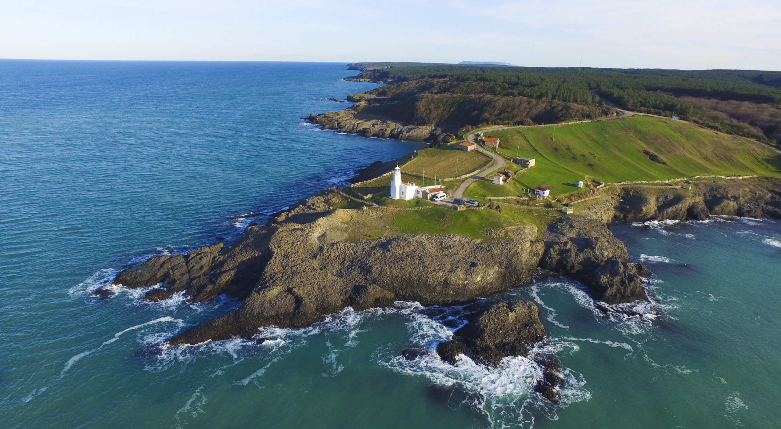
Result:
[[[675,114],[730,134],[781,141],[781,72],[354,63],[355,80],[387,84],[360,112],[410,125],[455,129],[551,123],[625,109]]]

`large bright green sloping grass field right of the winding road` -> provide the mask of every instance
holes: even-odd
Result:
[[[604,182],[707,174],[781,176],[779,154],[757,141],[649,116],[486,134],[501,138],[506,148],[500,151],[507,156],[537,158],[537,165],[520,175],[519,182],[528,188],[550,187],[553,195],[583,191],[576,183],[586,176]],[[651,161],[644,150],[667,165]],[[473,184],[475,191],[485,191],[480,185]],[[491,195],[506,193],[494,192]]]

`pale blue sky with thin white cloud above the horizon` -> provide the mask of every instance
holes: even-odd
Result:
[[[779,0],[0,0],[0,58],[781,70]]]

